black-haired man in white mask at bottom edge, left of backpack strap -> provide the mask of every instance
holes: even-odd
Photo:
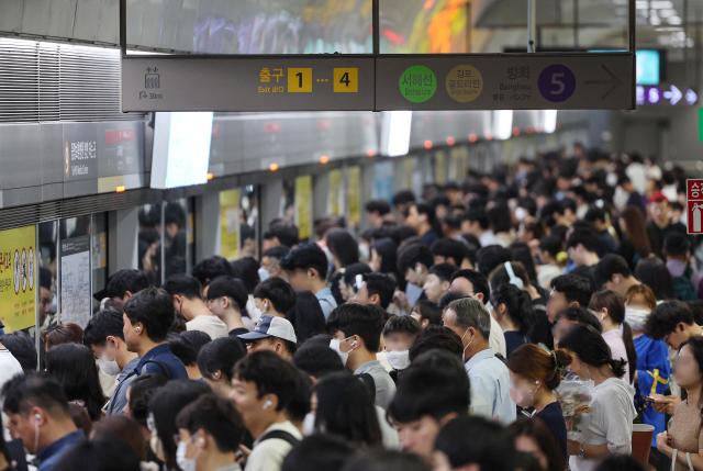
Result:
[[[180,441],[176,462],[181,471],[239,471],[235,457],[244,423],[232,402],[205,394],[176,417]]]

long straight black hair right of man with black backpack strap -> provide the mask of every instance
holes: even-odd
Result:
[[[367,386],[346,371],[317,382],[315,428],[369,448],[381,445],[381,428]]]

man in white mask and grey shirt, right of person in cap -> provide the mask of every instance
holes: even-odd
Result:
[[[327,328],[334,333],[330,348],[355,375],[373,380],[376,405],[387,408],[395,394],[395,383],[376,357],[383,319],[383,311],[379,307],[343,304],[330,315]]]

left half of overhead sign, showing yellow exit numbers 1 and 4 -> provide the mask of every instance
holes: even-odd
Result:
[[[372,57],[122,59],[123,111],[371,109]]]

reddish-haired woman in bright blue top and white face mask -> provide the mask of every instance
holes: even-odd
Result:
[[[657,434],[667,429],[667,418],[655,404],[647,401],[652,394],[665,394],[669,389],[671,362],[669,348],[663,340],[645,335],[645,324],[657,307],[655,293],[646,284],[636,284],[625,294],[625,321],[633,329],[633,343],[637,352],[635,377],[635,405],[641,411],[641,422],[655,427],[651,446],[657,446]]]

